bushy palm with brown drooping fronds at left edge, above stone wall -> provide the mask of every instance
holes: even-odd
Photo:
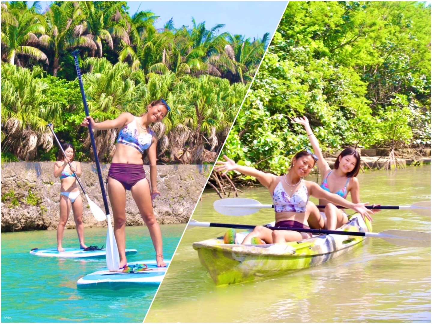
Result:
[[[41,78],[43,70],[32,71],[9,63],[2,63],[1,122],[2,151],[12,149],[20,159],[34,159],[38,147],[49,151],[53,146],[46,125],[61,122],[60,106],[47,102],[43,92],[48,85]]]

